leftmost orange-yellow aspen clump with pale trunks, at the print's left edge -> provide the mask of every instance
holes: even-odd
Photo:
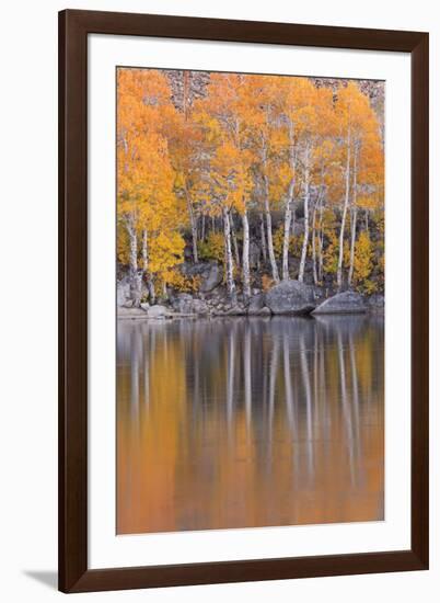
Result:
[[[118,70],[117,208],[129,239],[130,288],[135,306],[140,304],[142,275],[150,297],[154,299],[154,273],[163,280],[170,266],[182,260],[183,239],[176,234],[175,174],[167,140],[162,133],[163,121],[166,122],[173,112],[170,88],[161,72]],[[142,246],[141,270],[139,239]],[[160,240],[162,244],[159,244]],[[158,255],[164,252],[167,260],[158,262]]]

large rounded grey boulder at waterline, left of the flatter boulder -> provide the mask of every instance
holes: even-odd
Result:
[[[276,315],[310,314],[316,306],[314,289],[299,281],[282,281],[266,293],[266,306]]]

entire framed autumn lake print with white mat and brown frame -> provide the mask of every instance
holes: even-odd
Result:
[[[428,57],[59,14],[61,591],[428,568]]]

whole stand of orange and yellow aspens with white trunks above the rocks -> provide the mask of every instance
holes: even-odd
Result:
[[[164,295],[187,286],[185,251],[221,261],[231,297],[264,274],[382,289],[380,122],[354,81],[335,91],[303,77],[210,73],[178,106],[170,72],[119,68],[118,261],[135,305],[142,280],[152,298],[154,284]]]

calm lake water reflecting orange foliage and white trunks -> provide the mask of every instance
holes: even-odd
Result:
[[[378,521],[383,488],[383,318],[118,321],[118,534]]]

